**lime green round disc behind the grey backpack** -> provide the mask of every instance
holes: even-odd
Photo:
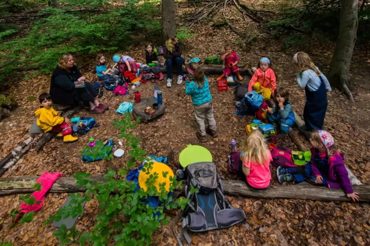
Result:
[[[208,149],[199,145],[188,145],[178,156],[181,167],[185,168],[196,162],[212,162],[212,155]]]

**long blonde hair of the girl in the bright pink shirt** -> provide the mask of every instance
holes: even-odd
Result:
[[[244,161],[256,165],[263,165],[269,159],[267,145],[262,133],[252,131],[242,143]]]

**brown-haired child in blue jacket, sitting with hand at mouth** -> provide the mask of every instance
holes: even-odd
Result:
[[[285,88],[276,88],[275,105],[268,107],[267,120],[279,125],[283,135],[288,134],[289,127],[295,123],[293,107],[289,102],[289,92]]]

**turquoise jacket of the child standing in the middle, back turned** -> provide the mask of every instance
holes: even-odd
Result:
[[[204,76],[204,85],[199,88],[198,84],[193,81],[186,81],[185,86],[186,95],[192,96],[194,105],[201,105],[203,103],[212,101],[211,93],[209,92],[208,79]]]

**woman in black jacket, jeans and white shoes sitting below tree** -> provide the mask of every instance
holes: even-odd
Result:
[[[172,85],[173,66],[176,66],[177,69],[177,84],[179,85],[182,83],[182,65],[185,62],[181,55],[181,44],[177,41],[176,36],[170,34],[163,48],[163,56],[166,58],[167,87],[171,87]]]

